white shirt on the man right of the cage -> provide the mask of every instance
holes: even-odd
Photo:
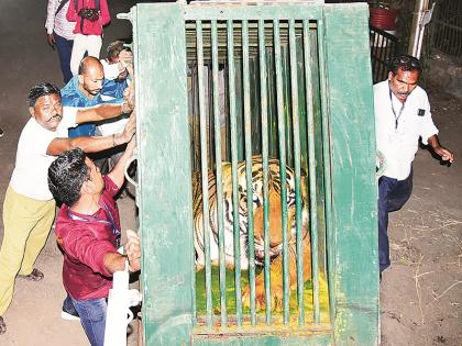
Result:
[[[392,100],[396,116],[392,109],[388,80],[374,86],[375,135],[377,149],[386,159],[384,176],[404,180],[410,174],[419,137],[424,144],[427,144],[429,137],[438,134],[438,129],[431,119],[430,103],[422,88],[416,87],[407,97],[402,113],[403,103],[393,92]],[[395,129],[396,118],[398,118],[397,129]]]

